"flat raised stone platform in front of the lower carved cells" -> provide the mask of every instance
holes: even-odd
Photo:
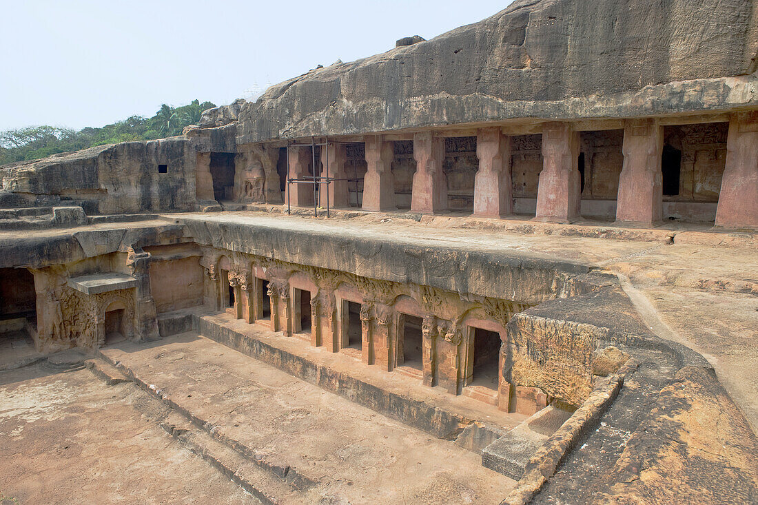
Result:
[[[299,503],[499,503],[514,485],[452,441],[197,334],[101,352],[193,425],[289,481]]]

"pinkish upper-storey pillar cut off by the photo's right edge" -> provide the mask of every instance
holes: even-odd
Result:
[[[716,226],[758,228],[758,112],[733,114]]]

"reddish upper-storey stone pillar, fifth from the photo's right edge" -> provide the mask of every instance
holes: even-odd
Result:
[[[445,161],[445,139],[431,131],[413,136],[413,174],[411,210],[413,212],[440,212],[447,209],[447,177],[442,168]]]

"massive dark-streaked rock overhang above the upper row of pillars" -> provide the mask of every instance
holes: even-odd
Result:
[[[272,86],[239,111],[238,143],[754,104],[755,76],[735,76],[756,70],[756,48],[752,2],[520,0],[434,39]]]

